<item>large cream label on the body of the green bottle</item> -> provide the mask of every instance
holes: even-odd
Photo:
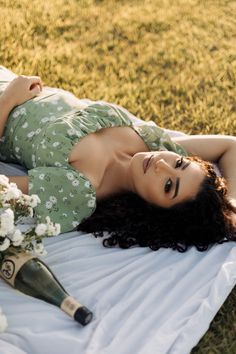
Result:
[[[5,279],[7,283],[14,287],[15,278],[18,271],[23,266],[23,264],[32,258],[34,257],[30,253],[11,250],[11,255],[6,255],[6,257],[3,259],[0,276]]]

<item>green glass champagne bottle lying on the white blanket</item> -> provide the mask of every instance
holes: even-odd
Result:
[[[29,253],[11,249],[2,261],[0,275],[22,293],[60,307],[83,326],[92,320],[92,312],[65,291],[45,263]]]

